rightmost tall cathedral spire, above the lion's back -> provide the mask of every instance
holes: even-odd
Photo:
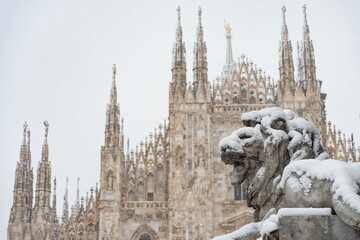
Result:
[[[309,84],[313,84],[316,80],[316,66],[314,45],[310,39],[310,30],[307,22],[306,5],[303,6],[304,26],[303,26],[303,40],[298,42],[298,80],[301,82],[305,91],[307,91]]]

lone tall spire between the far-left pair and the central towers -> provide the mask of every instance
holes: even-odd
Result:
[[[119,146],[120,138],[120,109],[117,102],[116,66],[112,67],[113,80],[111,86],[110,103],[106,109],[105,146]]]

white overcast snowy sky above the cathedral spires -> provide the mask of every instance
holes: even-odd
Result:
[[[245,54],[277,80],[284,3],[294,49],[302,38],[301,6],[307,4],[317,77],[328,94],[328,120],[347,136],[354,132],[360,145],[360,1],[1,0],[0,238],[6,236],[25,120],[31,128],[35,178],[44,136],[42,122],[49,121],[60,213],[66,176],[71,204],[77,176],[81,195],[99,180],[112,64],[118,69],[125,134],[134,147],[168,116],[178,5],[189,81],[198,6],[203,9],[211,81],[225,61],[224,18],[233,29],[234,57]]]

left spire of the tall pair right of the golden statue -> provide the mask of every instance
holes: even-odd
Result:
[[[289,41],[289,33],[286,25],[285,12],[286,8],[281,8],[283,23],[281,26],[281,40],[279,42],[279,73],[280,73],[280,88],[290,87],[291,92],[294,91],[294,62],[292,56],[292,45]],[[289,85],[289,86],[288,86]]]

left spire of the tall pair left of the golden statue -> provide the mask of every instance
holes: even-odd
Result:
[[[172,50],[172,82],[171,92],[174,95],[179,89],[182,95],[185,95],[186,91],[186,49],[185,43],[182,39],[182,27],[180,18],[180,7],[177,8],[178,24],[176,27],[175,42]]]

